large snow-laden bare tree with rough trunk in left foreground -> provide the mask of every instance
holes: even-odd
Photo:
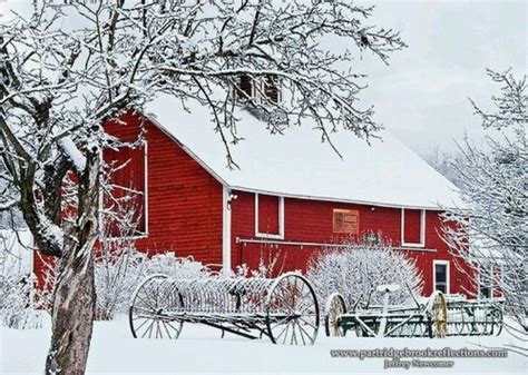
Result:
[[[17,207],[39,251],[59,257],[48,374],[86,368],[95,312],[105,121],[141,110],[159,92],[208,107],[219,141],[236,136],[237,103],[267,114],[272,132],[312,116],[322,139],[336,129],[369,139],[381,127],[358,107],[364,75],[358,51],[387,62],[398,32],[365,23],[372,7],[350,1],[55,1],[0,24],[0,140]],[[332,53],[323,38],[350,49]],[[241,77],[281,85],[284,100],[255,100]],[[75,172],[71,220],[61,220],[62,184]]]

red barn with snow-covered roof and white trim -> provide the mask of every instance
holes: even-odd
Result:
[[[463,293],[466,276],[439,236],[440,207],[453,204],[456,188],[403,144],[384,131],[369,146],[343,130],[333,137],[340,157],[313,120],[271,135],[253,115],[237,116],[244,140],[231,152],[239,169],[227,168],[208,109],[188,112],[168,97],[147,108],[140,147],[105,154],[129,160],[113,178],[143,193],[138,249],[231,268],[278,254],[284,270],[304,270],[344,236],[382,236],[418,259],[424,294]],[[107,131],[137,139],[140,117],[121,121]]]

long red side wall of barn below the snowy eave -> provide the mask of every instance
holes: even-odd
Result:
[[[275,273],[283,270],[306,270],[309,260],[321,251],[313,246],[284,246],[263,244],[241,244],[237,238],[265,239],[255,237],[255,201],[254,194],[234,191],[236,199],[232,207],[232,266],[247,264],[256,268],[261,259],[264,263],[277,259]],[[375,207],[366,205],[339,204],[321,200],[304,200],[284,198],[284,240],[304,243],[333,243],[343,236],[336,236],[332,229],[333,209],[352,209],[360,214],[360,236],[370,233],[380,233],[385,240],[400,246],[401,239],[401,209]],[[438,230],[441,220],[438,211],[426,214],[426,249],[436,251],[404,250],[417,259],[424,279],[424,295],[432,293],[433,259],[450,260],[451,293],[461,293],[469,285],[467,276],[457,269],[447,245],[440,238]]]

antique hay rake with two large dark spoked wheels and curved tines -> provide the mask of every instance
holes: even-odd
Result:
[[[199,323],[247,338],[267,336],[274,344],[312,345],[319,305],[301,275],[277,278],[213,276],[173,279],[147,277],[129,308],[134,337],[178,338],[184,323]]]

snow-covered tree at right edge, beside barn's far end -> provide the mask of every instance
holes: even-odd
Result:
[[[499,131],[487,137],[487,148],[466,141],[461,148],[463,207],[448,208],[443,237],[475,280],[480,297],[501,296],[506,312],[528,333],[528,122],[526,77],[516,80],[509,72],[488,70],[501,85],[492,97],[495,111],[486,112],[471,101],[485,129]],[[514,327],[510,325],[510,329]],[[520,338],[520,337],[519,337]],[[526,346],[525,346],[526,347]]]

